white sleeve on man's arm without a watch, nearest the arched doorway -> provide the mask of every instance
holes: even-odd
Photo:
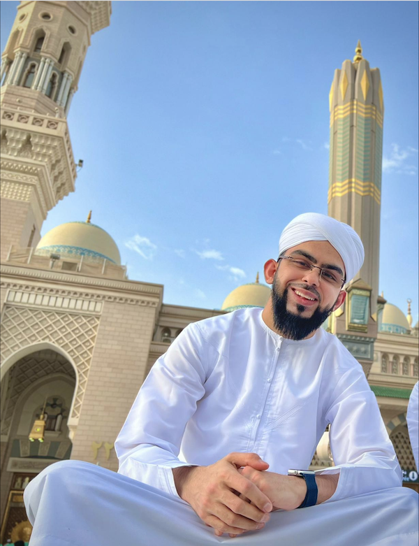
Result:
[[[186,423],[205,394],[205,345],[187,326],[152,367],[115,442],[119,473],[178,496],[172,468]]]

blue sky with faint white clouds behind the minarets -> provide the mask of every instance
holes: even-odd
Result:
[[[17,2],[1,2],[1,50]],[[418,319],[418,3],[112,2],[68,116],[76,191],[43,234],[85,220],[165,303],[220,308],[327,213],[328,94],[358,39],[385,101],[380,291]]]

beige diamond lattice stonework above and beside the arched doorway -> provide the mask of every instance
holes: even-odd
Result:
[[[22,347],[49,341],[71,357],[78,389],[71,417],[78,419],[98,331],[99,318],[89,315],[6,306],[1,324],[1,359]]]

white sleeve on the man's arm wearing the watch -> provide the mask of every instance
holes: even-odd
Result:
[[[400,486],[402,470],[365,373],[354,366],[337,379],[325,415],[335,466],[316,471],[339,473],[326,502]]]

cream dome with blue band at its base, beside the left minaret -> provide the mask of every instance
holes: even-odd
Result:
[[[59,254],[61,258],[83,257],[88,261],[107,259],[121,265],[117,243],[101,227],[87,222],[67,222],[54,227],[41,238],[36,254]]]

